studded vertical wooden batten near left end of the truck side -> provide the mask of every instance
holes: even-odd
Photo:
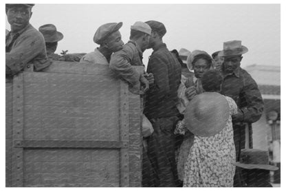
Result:
[[[23,139],[23,73],[13,78],[13,141]],[[23,186],[23,148],[12,148],[12,186]]]

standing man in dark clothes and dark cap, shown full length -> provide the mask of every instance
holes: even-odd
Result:
[[[147,21],[152,32],[149,47],[153,48],[147,72],[154,76],[154,85],[146,93],[144,114],[152,122],[154,132],[148,140],[148,157],[155,167],[159,187],[179,186],[175,164],[175,135],[179,118],[177,90],[181,82],[181,65],[167,49],[162,37],[166,27],[158,21]]]

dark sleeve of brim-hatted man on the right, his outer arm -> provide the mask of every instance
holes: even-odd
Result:
[[[261,93],[256,85],[256,82],[251,76],[245,78],[245,85],[242,91],[243,106],[241,111],[243,112],[243,121],[254,123],[258,121],[263,113],[264,103]]]

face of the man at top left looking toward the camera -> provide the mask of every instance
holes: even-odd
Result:
[[[7,19],[12,32],[18,32],[29,24],[32,16],[31,8],[25,5],[17,5],[8,9]]]

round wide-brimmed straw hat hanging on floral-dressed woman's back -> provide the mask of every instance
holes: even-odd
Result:
[[[230,106],[223,95],[200,93],[186,107],[186,127],[197,136],[210,137],[225,127],[229,116]]]

